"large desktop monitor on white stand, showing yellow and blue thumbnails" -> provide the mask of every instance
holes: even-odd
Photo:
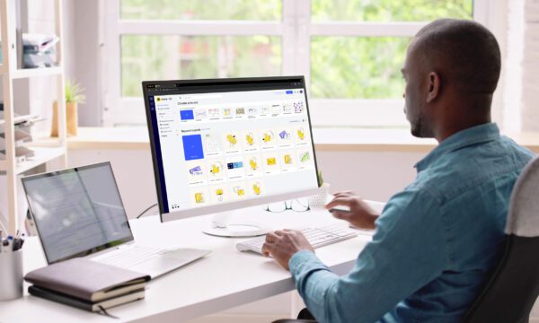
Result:
[[[206,233],[263,234],[225,211],[316,192],[303,76],[142,86],[162,222],[218,214]]]

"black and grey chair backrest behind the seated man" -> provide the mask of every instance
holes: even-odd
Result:
[[[505,250],[464,322],[527,322],[539,294],[539,158],[515,183],[509,203]]]

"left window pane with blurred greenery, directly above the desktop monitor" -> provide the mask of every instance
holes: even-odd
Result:
[[[281,65],[273,36],[124,35],[121,96],[139,96],[142,80],[278,75]]]

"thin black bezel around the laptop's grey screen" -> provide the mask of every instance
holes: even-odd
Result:
[[[34,212],[32,210],[31,201],[30,201],[30,198],[29,198],[28,193],[27,193],[26,182],[31,181],[31,180],[36,180],[36,179],[42,179],[42,178],[45,178],[45,177],[53,177],[53,176],[65,174],[67,172],[98,168],[98,167],[102,167],[102,166],[106,166],[106,165],[109,166],[110,172],[112,174],[112,179],[114,180],[114,184],[115,184],[116,190],[118,192],[119,202],[121,204],[122,209],[124,210],[124,215],[126,217],[126,223],[128,223],[129,236],[127,236],[125,238],[122,238],[122,239],[119,239],[119,240],[109,241],[109,242],[104,243],[104,244],[102,244],[100,246],[96,246],[96,247],[93,247],[91,249],[86,249],[86,250],[77,252],[77,253],[72,254],[70,256],[67,256],[65,258],[59,258],[59,259],[53,260],[53,261],[49,260],[49,255],[47,254],[47,249],[45,249],[45,243],[43,242],[43,240],[41,238],[40,223],[39,223],[39,221],[36,221],[36,216],[34,215]],[[94,254],[96,252],[100,252],[102,250],[110,249],[110,248],[113,248],[113,247],[118,247],[119,245],[123,245],[123,244],[125,244],[127,242],[130,242],[130,241],[134,240],[133,231],[131,230],[131,226],[130,226],[129,221],[128,221],[128,214],[126,213],[126,209],[125,209],[125,206],[124,206],[123,201],[121,199],[121,195],[119,194],[118,182],[116,181],[116,177],[114,176],[114,171],[112,170],[110,162],[98,162],[98,163],[93,163],[93,164],[89,164],[89,165],[69,168],[69,169],[66,169],[66,170],[55,170],[55,171],[49,171],[49,172],[40,173],[40,174],[36,174],[36,175],[29,175],[29,176],[23,177],[21,179],[21,181],[22,181],[22,188],[24,189],[24,193],[25,193],[24,195],[26,196],[26,200],[28,202],[28,210],[30,211],[31,218],[32,218],[32,220],[33,220],[33,222],[34,222],[34,224],[36,226],[37,231],[38,231],[38,237],[40,238],[40,243],[41,243],[41,246],[42,246],[41,249],[43,249],[43,253],[45,254],[45,258],[46,258],[47,263],[49,265],[57,263],[57,262],[61,262],[61,261],[67,260],[67,259],[71,259],[71,258],[89,256],[89,255],[92,255],[92,254]]]

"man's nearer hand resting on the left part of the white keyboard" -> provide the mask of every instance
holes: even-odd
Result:
[[[294,254],[301,250],[311,250],[313,246],[305,239],[305,236],[296,230],[278,230],[266,234],[266,242],[262,246],[262,254],[273,257],[280,266],[288,268],[288,261]]]

